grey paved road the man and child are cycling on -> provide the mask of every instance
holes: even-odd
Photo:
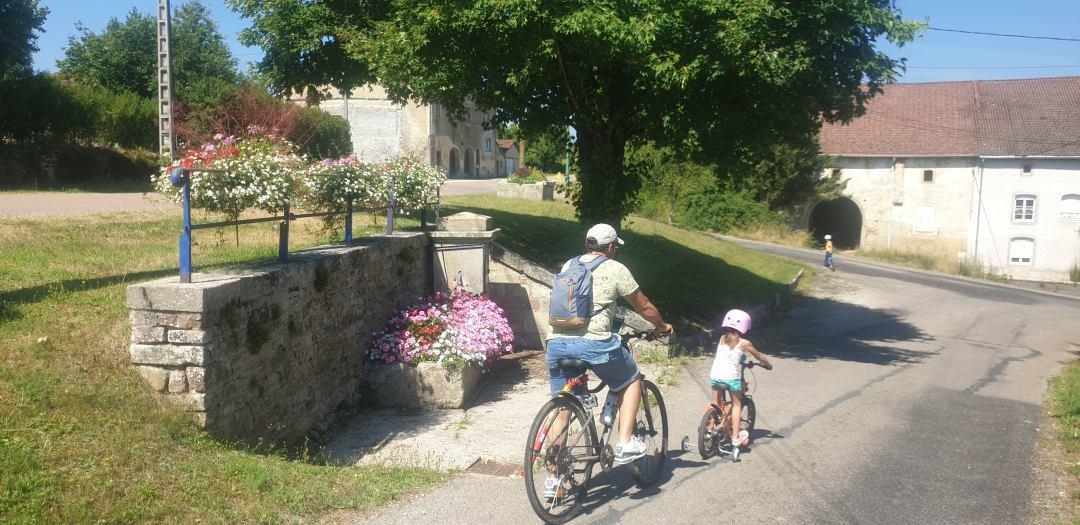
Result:
[[[818,262],[818,254],[773,253]],[[1080,351],[1080,301],[840,260],[756,342],[777,369],[739,463],[672,452],[653,487],[594,479],[575,523],[1024,523],[1047,379]],[[708,361],[664,389],[696,432]],[[531,418],[532,414],[522,414]],[[522,436],[524,440],[524,436]],[[369,523],[536,523],[519,479],[463,474]]]

